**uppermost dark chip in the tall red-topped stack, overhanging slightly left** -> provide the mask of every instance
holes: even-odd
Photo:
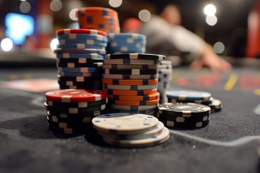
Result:
[[[96,48],[56,48],[54,49],[54,53],[99,53],[99,54],[106,54],[105,49],[96,49]]]

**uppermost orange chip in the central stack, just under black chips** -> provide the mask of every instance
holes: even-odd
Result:
[[[128,79],[102,79],[103,84],[109,85],[155,85],[158,84],[158,79],[148,79],[148,80],[128,80]]]

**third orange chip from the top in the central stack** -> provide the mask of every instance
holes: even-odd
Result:
[[[107,95],[111,100],[124,100],[124,101],[146,101],[146,100],[156,100],[160,98],[160,93],[150,95]]]

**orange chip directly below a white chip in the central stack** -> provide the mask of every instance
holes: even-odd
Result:
[[[157,88],[148,90],[117,90],[103,88],[103,90],[109,95],[151,95],[157,93]]]

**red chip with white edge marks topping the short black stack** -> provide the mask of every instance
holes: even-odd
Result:
[[[55,102],[88,102],[105,99],[106,93],[101,90],[92,89],[60,89],[49,91],[46,99]]]

